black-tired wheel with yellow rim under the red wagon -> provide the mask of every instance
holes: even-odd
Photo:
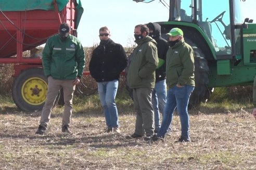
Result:
[[[23,111],[42,110],[48,90],[47,83],[43,68],[25,69],[12,84],[12,100]]]

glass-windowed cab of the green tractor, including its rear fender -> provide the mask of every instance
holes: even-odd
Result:
[[[242,29],[247,25],[242,21],[240,3],[240,0],[170,0],[169,20],[161,22],[162,35],[174,26],[181,27],[184,38],[201,47],[207,60],[241,59]]]

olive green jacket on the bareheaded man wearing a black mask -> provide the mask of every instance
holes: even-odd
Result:
[[[157,43],[146,36],[136,40],[138,46],[133,51],[133,59],[127,74],[128,86],[135,88],[155,88],[155,70],[158,66]]]

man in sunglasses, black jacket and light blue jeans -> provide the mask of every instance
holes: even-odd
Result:
[[[120,73],[127,65],[127,56],[122,45],[110,39],[108,27],[99,29],[99,39],[99,46],[93,51],[89,63],[89,71],[98,84],[99,98],[107,124],[105,132],[120,133],[118,110],[114,99],[117,95]]]

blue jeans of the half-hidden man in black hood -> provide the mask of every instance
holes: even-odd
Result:
[[[155,117],[155,131],[160,129],[160,111],[163,114],[163,109],[166,104],[166,80],[158,81],[152,92],[152,106]]]

